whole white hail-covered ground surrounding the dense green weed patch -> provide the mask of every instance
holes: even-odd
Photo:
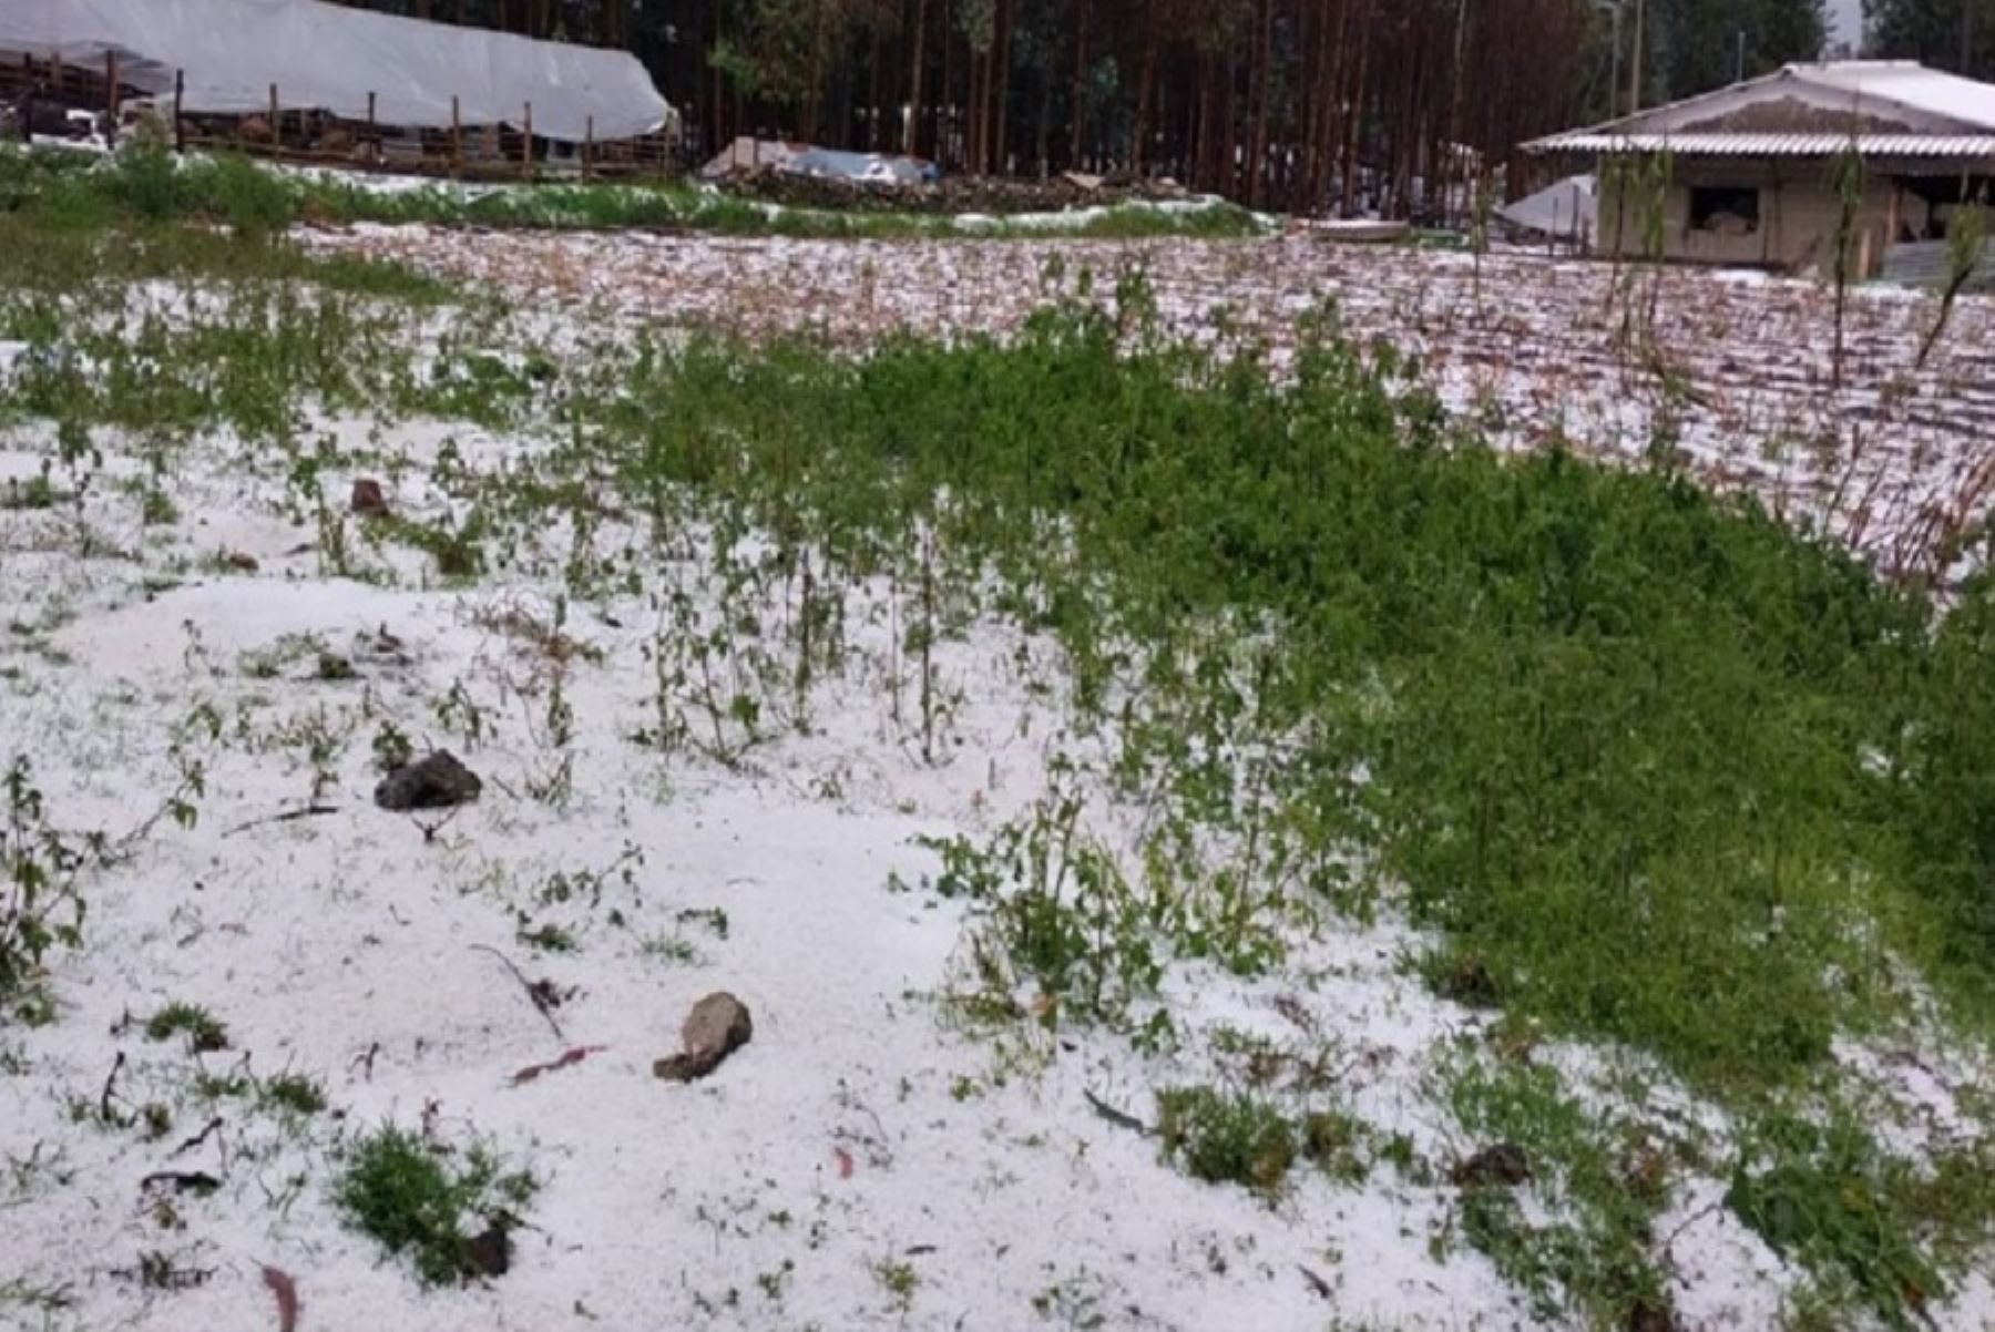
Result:
[[[810,421],[732,471],[748,343],[674,381],[726,403],[684,433],[642,391],[714,329],[868,353],[1089,291],[1289,375],[1333,307],[1504,445],[1688,459],[1957,572],[1987,305],[1915,369],[1933,301],[1859,293],[1837,371],[1807,283],[1297,235],[297,239],[443,287],[0,273],[0,893],[56,931],[0,923],[0,1324],[1995,1320],[1985,1222],[1913,1252],[1829,1202],[1823,1248],[1782,1210],[1813,1176],[1766,1168],[1792,1139],[1748,1149],[1762,1103],[1712,1061],[1436,975],[1373,849],[1279,804],[1309,722],[1237,722],[1273,624],[1197,658],[1235,712],[1165,734],[1147,690],[1219,626],[1117,620],[1081,660],[1089,580],[962,556],[970,500],[840,514]],[[433,752],[475,800],[381,808]],[[714,993],[752,1037],[658,1077]],[[1879,1196],[1933,1163],[1971,1192],[1987,1047],[1905,993],[1768,1095],[1861,1119]]]

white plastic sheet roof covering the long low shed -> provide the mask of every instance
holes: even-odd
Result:
[[[523,126],[553,140],[622,140],[672,120],[630,52],[349,10],[323,0],[0,0],[0,52],[102,66],[152,94],[186,78],[182,108],[253,114],[277,86],[285,110],[385,126]]]

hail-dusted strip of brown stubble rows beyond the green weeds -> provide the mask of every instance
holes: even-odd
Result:
[[[1825,520],[1889,566],[1995,493],[1995,305],[1815,279],[1365,247],[1305,227],[1265,241],[792,241],[712,235],[311,231],[311,249],[403,259],[597,317],[864,349],[888,333],[1005,335],[1047,301],[1141,273],[1163,329],[1255,347],[1279,371],[1297,327],[1414,359],[1492,439],[1604,459],[1658,451],[1776,512]],[[1925,349],[1921,361],[1921,349]]]

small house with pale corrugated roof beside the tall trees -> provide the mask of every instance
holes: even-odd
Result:
[[[1861,173],[1843,166],[1855,150]],[[1931,245],[1995,177],[1995,86],[1903,60],[1790,64],[1764,78],[1524,146],[1598,162],[1598,243],[1686,263],[1815,269],[1855,191],[1855,275]],[[1660,195],[1660,197],[1658,197]]]

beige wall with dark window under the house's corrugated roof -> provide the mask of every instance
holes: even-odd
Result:
[[[1602,173],[1600,247],[1626,257],[1644,253],[1640,189]],[[1760,219],[1752,229],[1692,225],[1698,187],[1750,187],[1758,191]],[[1626,205],[1624,205],[1626,193]],[[1694,162],[1680,164],[1664,193],[1664,257],[1680,263],[1730,263],[1770,269],[1819,269],[1835,255],[1841,199],[1825,162]],[[1857,205],[1857,275],[1869,275],[1885,247],[1907,225],[1923,227],[1927,205],[1889,177],[1865,183]]]

